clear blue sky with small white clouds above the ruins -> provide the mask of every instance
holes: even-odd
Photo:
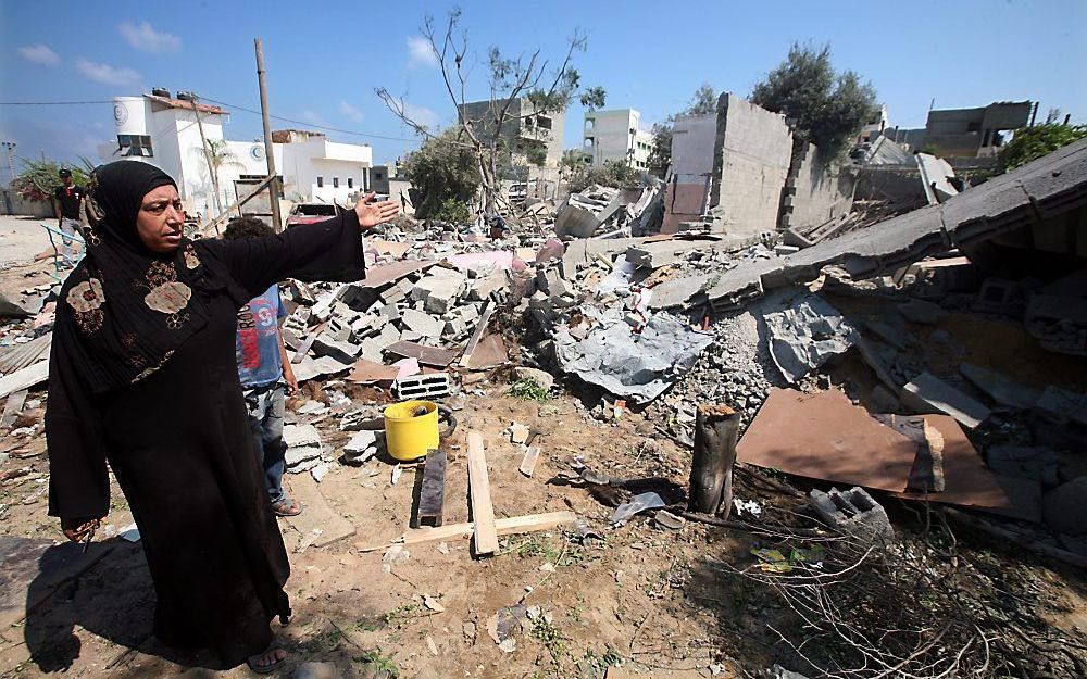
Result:
[[[117,95],[193,90],[259,109],[253,38],[264,40],[273,114],[376,137],[382,163],[417,146],[374,95],[385,86],[420,115],[448,123],[440,74],[413,50],[423,16],[443,22],[451,3],[13,2],[0,0],[0,101],[99,101]],[[682,109],[702,83],[747,96],[795,40],[829,42],[835,64],[872,81],[892,124],[921,127],[936,108],[1034,99],[1087,121],[1087,2],[921,0],[909,3],[463,2],[474,92],[487,96],[487,48],[542,48],[562,56],[580,28],[588,51],[575,66],[603,86],[608,108],[635,108],[651,124]],[[109,104],[0,105],[0,138],[20,156],[97,159],[113,138]],[[580,141],[583,111],[567,111],[565,147]],[[298,127],[273,121],[273,127]],[[235,111],[230,139],[261,134]]]

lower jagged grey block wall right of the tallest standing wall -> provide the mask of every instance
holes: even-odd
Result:
[[[780,228],[817,226],[848,214],[853,206],[855,175],[836,160],[823,158],[809,143],[794,163],[782,199]]]

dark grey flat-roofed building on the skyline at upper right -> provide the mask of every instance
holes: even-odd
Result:
[[[927,147],[944,158],[987,158],[1009,140],[1009,131],[1030,125],[1037,110],[1034,101],[998,101],[977,109],[929,111],[924,128],[884,134],[914,151]]]

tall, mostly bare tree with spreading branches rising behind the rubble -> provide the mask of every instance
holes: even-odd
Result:
[[[468,117],[464,104],[467,103],[468,79],[475,64],[465,59],[468,51],[467,32],[460,27],[460,18],[461,11],[452,10],[445,32],[439,33],[434,17],[426,15],[421,34],[429,41],[438,58],[446,91],[457,109],[459,134],[457,141],[450,143],[461,144],[475,155],[482,206],[485,213],[493,213],[499,205],[509,206],[499,190],[501,169],[512,152],[502,135],[503,130],[514,127],[536,128],[537,116],[560,113],[566,109],[580,83],[580,76],[572,65],[574,53],[584,52],[587,41],[584,33],[575,30],[567,43],[565,56],[557,66],[552,66],[542,56],[541,50],[509,59],[503,56],[499,48],[491,47],[487,53],[489,105],[484,115]],[[393,97],[384,87],[377,88],[376,92],[385,105],[417,134],[430,139],[437,138],[437,130],[428,129],[426,125],[412,118],[402,98]],[[602,105],[603,96],[603,90],[597,87],[587,90],[583,99],[587,103]],[[530,105],[521,105],[522,100]],[[537,136],[546,137],[546,134]]]

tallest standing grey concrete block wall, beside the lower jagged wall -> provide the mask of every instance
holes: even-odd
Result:
[[[792,133],[785,116],[724,93],[717,100],[710,205],[714,230],[755,235],[777,227]]]

